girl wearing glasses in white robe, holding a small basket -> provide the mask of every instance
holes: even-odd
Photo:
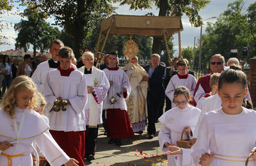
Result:
[[[173,94],[173,102],[177,105],[159,117],[162,128],[158,139],[162,151],[168,155],[168,165],[193,165],[190,149],[175,147],[180,140],[182,130],[188,133],[189,138],[193,136],[200,110],[189,105],[191,95],[189,89],[179,86]],[[184,139],[187,139],[184,137]]]

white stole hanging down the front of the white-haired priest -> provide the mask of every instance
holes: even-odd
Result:
[[[92,83],[93,83],[92,87],[100,86],[99,85],[100,80],[101,80],[101,70],[95,68],[95,66],[92,66]],[[90,128],[97,128],[98,117],[99,117],[99,104],[94,100],[94,96],[92,95],[92,99],[90,100],[90,114],[89,114]]]

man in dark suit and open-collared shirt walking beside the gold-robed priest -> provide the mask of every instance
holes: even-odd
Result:
[[[158,118],[159,107],[163,102],[164,93],[164,78],[166,76],[166,67],[160,63],[159,54],[151,56],[150,64],[144,66],[149,75],[148,79],[148,93],[147,93],[147,106],[148,106],[148,139],[152,139],[156,135],[155,121]]]

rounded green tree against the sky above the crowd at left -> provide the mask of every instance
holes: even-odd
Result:
[[[40,49],[41,52],[49,49],[51,41],[58,38],[60,31],[45,22],[47,17],[44,12],[26,9],[22,16],[28,20],[22,19],[14,26],[15,31],[19,32],[15,47],[23,48],[26,51],[29,49],[29,45],[33,45],[33,56],[35,57],[37,49]]]

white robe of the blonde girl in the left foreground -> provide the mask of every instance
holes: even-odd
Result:
[[[24,120],[22,121],[23,114]],[[49,133],[49,126],[45,123],[40,114],[31,109],[24,110],[15,107],[15,117],[17,128],[20,130],[19,140],[17,140],[13,120],[9,117],[8,113],[0,109],[0,142],[4,142],[4,140],[8,142],[18,142],[14,143],[13,147],[9,147],[0,153],[4,153],[5,155],[24,155],[12,158],[12,166],[33,165],[31,156],[31,153],[33,153],[31,146],[33,143],[36,143],[51,165],[59,166],[70,160],[52,138]],[[6,156],[0,155],[0,165],[8,165]]]

